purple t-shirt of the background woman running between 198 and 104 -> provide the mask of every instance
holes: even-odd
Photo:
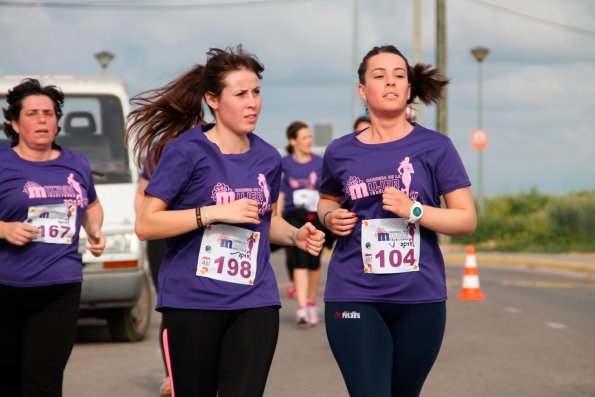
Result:
[[[312,154],[307,163],[298,163],[293,156],[281,159],[283,178],[281,192],[285,194],[284,215],[296,209],[293,202],[293,192],[299,189],[318,190],[320,187],[320,173],[322,172],[322,157]]]

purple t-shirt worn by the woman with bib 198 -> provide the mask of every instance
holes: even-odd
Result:
[[[157,309],[235,310],[280,306],[279,289],[270,265],[268,233],[272,204],[279,197],[281,156],[254,134],[248,135],[250,150],[246,153],[223,154],[204,134],[211,127],[198,126],[168,144],[145,193],[165,201],[170,210],[225,204],[242,198],[257,200],[260,225],[231,225],[260,235],[258,247],[249,248],[258,249],[254,282],[249,285],[200,276],[204,259],[201,257],[199,262],[201,247],[209,252],[214,248],[213,253],[218,248],[208,243],[203,245],[205,229],[193,230],[166,240],[167,253],[159,270]],[[223,237],[220,239],[223,244]],[[223,275],[227,272],[237,275],[241,261],[238,256],[235,269],[227,259],[222,262],[221,265],[225,265]]]

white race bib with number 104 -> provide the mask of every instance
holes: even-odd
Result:
[[[364,272],[393,274],[419,271],[419,225],[403,218],[362,221]]]

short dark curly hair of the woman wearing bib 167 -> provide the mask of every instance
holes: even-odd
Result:
[[[8,106],[2,109],[4,113],[4,134],[12,142],[12,146],[19,143],[19,134],[12,128],[13,121],[19,121],[21,110],[23,109],[23,100],[31,95],[45,95],[54,103],[54,112],[56,118],[60,121],[62,117],[62,106],[64,105],[64,94],[54,85],[42,86],[39,80],[26,78],[21,80],[19,85],[14,86],[8,91],[6,103]],[[58,126],[58,132],[61,131]]]

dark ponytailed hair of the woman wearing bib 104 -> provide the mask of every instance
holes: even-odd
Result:
[[[383,53],[398,55],[403,58],[405,65],[407,65],[407,79],[411,83],[411,97],[407,100],[407,104],[414,102],[415,98],[419,98],[423,103],[429,105],[432,102],[437,102],[442,97],[444,87],[450,82],[450,79],[443,76],[432,65],[417,63],[410,66],[407,58],[394,45],[376,46],[364,56],[357,69],[361,84],[366,82],[365,74],[368,69],[368,60],[374,55]]]

